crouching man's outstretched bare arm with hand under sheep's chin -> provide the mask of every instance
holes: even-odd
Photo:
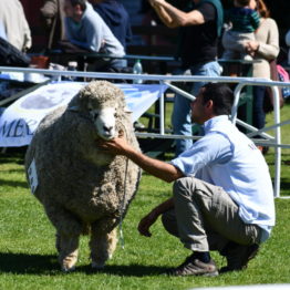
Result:
[[[97,141],[97,145],[107,153],[126,156],[145,172],[167,183],[170,183],[184,176],[184,174],[172,164],[151,158],[145,154],[135,151],[126,143],[123,137],[116,137],[112,141],[100,139]]]

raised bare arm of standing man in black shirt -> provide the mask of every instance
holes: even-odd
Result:
[[[204,24],[204,15],[198,10],[184,12],[165,0],[149,0],[160,20],[169,28]]]

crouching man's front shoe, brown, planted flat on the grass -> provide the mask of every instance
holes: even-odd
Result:
[[[186,258],[186,260],[177,268],[166,271],[168,276],[218,276],[218,270],[214,260],[209,262],[201,262],[194,257],[194,253]]]

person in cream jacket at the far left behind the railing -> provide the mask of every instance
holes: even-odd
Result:
[[[25,52],[32,45],[30,28],[19,0],[0,1],[0,21],[7,40],[19,51]]]

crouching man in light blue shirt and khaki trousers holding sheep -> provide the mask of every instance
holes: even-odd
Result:
[[[275,225],[268,166],[255,144],[230,123],[232,101],[227,85],[204,85],[191,103],[191,118],[204,125],[205,136],[169,163],[136,152],[122,137],[99,143],[157,178],[174,182],[173,197],[138,225],[141,235],[149,237],[149,227],[162,216],[165,229],[193,251],[168,275],[217,276],[245,269]],[[219,271],[210,250],[227,259]]]

